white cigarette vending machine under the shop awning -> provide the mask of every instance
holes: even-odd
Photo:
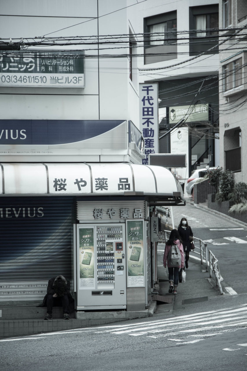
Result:
[[[76,233],[76,309],[126,309],[125,224],[78,224]]]

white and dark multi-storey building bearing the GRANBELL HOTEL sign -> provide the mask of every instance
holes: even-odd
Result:
[[[160,152],[187,154],[187,169],[174,169],[185,181],[195,168],[219,162],[218,1],[156,0],[142,6],[140,79],[158,82],[160,136],[185,119],[159,141]]]

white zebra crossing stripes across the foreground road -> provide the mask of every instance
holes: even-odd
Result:
[[[157,339],[169,337],[171,341],[178,340],[179,344],[192,344],[202,341],[206,336],[222,334],[223,332],[237,331],[238,328],[247,328],[247,304],[239,307],[227,308],[218,311],[192,313],[165,319],[148,319],[142,322],[122,325],[95,326],[90,328],[77,328],[52,333],[43,333],[36,336],[23,336],[21,338],[1,339],[4,341],[44,339],[46,336],[61,336],[63,334],[76,333],[108,333],[119,336],[146,336]],[[191,339],[194,338],[194,339]],[[176,341],[176,344],[178,342]],[[238,344],[247,347],[247,343]]]

